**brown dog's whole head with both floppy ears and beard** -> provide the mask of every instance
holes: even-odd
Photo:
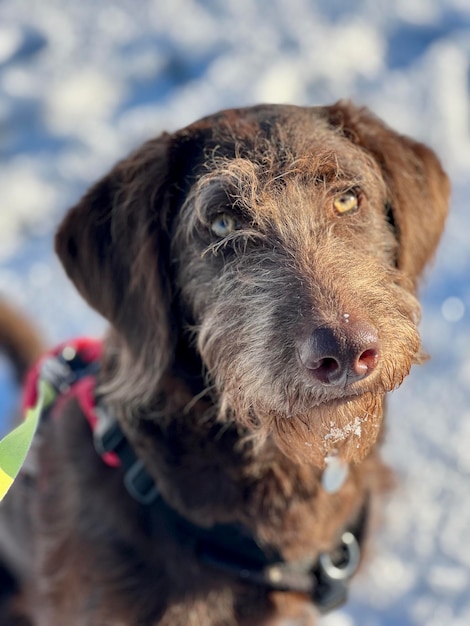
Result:
[[[222,419],[322,466],[367,454],[420,360],[447,195],[432,152],[366,111],[256,107],[120,163],[57,249],[147,387],[199,362]]]

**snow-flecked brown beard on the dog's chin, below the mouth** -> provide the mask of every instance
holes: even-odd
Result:
[[[412,353],[398,371],[373,373],[350,388],[315,387],[292,383],[289,368],[284,375],[262,385],[253,371],[244,377],[236,362],[228,366],[228,379],[220,369],[216,381],[221,420],[233,420],[248,432],[255,445],[268,439],[286,456],[301,463],[324,467],[328,455],[338,454],[348,463],[363,460],[377,441],[387,392],[398,387],[413,362]]]

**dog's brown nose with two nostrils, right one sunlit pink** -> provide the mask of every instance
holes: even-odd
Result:
[[[344,386],[366,378],[379,361],[377,330],[350,320],[340,328],[317,328],[299,348],[310,374],[323,385]]]

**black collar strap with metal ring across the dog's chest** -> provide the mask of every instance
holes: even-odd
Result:
[[[99,366],[97,361],[84,362],[73,351],[70,357],[64,355],[66,350],[51,357],[42,373],[58,393],[84,376],[95,375]],[[149,519],[163,516],[175,539],[181,544],[189,542],[200,562],[266,591],[305,594],[322,613],[346,601],[349,582],[359,566],[368,517],[367,501],[334,550],[315,559],[286,561],[275,548],[260,542],[241,524],[203,528],[180,515],[161,497],[153,478],[104,403],[98,401],[95,414],[93,436],[97,453],[117,455],[131,497],[147,510]]]

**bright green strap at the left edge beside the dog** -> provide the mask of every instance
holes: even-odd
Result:
[[[44,379],[38,381],[38,400],[27,410],[24,421],[0,440],[0,501],[10,489],[31,447],[41,414],[57,397],[55,389]]]

